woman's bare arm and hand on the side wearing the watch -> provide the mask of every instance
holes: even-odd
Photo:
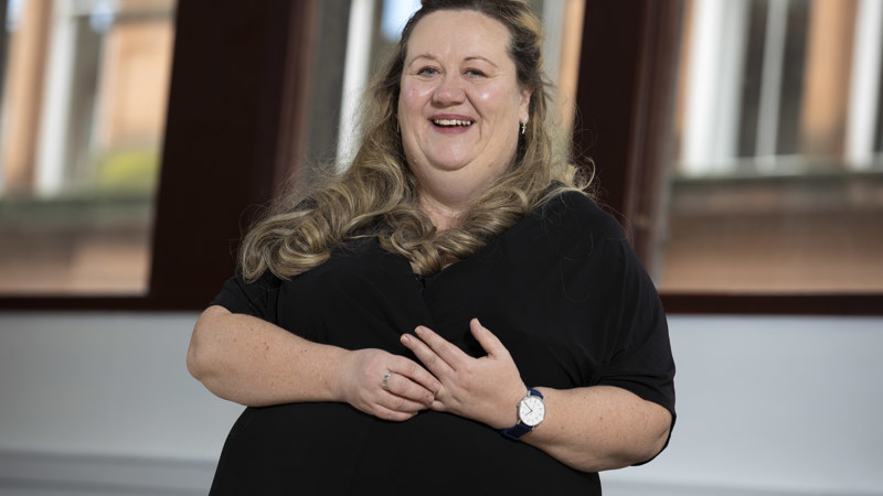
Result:
[[[419,339],[403,335],[440,381],[433,409],[478,420],[494,429],[518,423],[517,406],[526,395],[518,367],[502,343],[477,320],[472,334],[487,356],[472,358],[426,327]],[[522,442],[585,472],[645,462],[664,446],[671,425],[668,410],[616,387],[538,388],[546,417]]]

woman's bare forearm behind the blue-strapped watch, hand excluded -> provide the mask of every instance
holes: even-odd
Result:
[[[668,439],[669,411],[625,389],[538,389],[546,417],[522,441],[574,468],[599,472],[643,462]]]

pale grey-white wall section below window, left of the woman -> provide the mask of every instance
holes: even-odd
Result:
[[[0,313],[0,494],[205,494],[242,408],[188,374],[195,319]]]

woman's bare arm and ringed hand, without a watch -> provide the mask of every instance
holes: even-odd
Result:
[[[237,403],[344,401],[398,421],[426,409],[440,387],[419,364],[403,356],[312,343],[217,305],[196,321],[187,365],[210,391]],[[394,374],[384,389],[381,381],[387,371]]]

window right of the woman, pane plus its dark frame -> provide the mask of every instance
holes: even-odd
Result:
[[[575,140],[667,310],[880,314],[880,79],[869,77],[880,67],[880,2],[621,3],[586,3]],[[831,30],[841,37],[815,37]],[[779,65],[762,76],[753,71],[768,43],[767,67],[774,55]],[[691,57],[691,47],[711,54]],[[687,88],[696,60],[709,62],[699,71],[713,80],[709,94]],[[851,73],[849,98],[828,86],[844,88],[838,71]],[[691,125],[691,110],[712,120]],[[849,131],[827,126],[834,115],[850,116]],[[807,139],[810,130],[825,134]]]

